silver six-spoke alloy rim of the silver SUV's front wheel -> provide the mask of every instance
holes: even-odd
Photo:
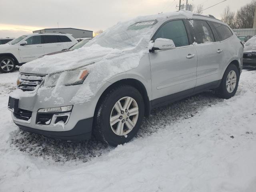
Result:
[[[139,116],[137,102],[131,97],[123,97],[116,102],[110,114],[110,126],[118,136],[132,131]]]

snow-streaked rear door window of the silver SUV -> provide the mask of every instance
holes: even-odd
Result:
[[[192,28],[194,28],[195,42],[198,44],[206,42],[215,42],[212,30],[206,21],[189,20]]]

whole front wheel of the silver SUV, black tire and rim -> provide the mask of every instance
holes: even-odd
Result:
[[[118,101],[121,104],[121,109],[118,107]],[[128,109],[126,111],[124,106],[129,102],[130,107],[126,108]],[[136,107],[138,108],[138,114],[136,114]],[[120,112],[118,112],[118,109]],[[93,134],[96,139],[111,146],[129,142],[141,126],[144,111],[144,100],[136,88],[130,85],[120,85],[112,88],[104,95],[96,109]],[[112,126],[110,125],[110,118],[112,118]],[[116,124],[114,124],[115,121]]]

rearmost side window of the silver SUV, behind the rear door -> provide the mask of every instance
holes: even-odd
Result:
[[[219,41],[226,40],[233,35],[231,30],[226,25],[215,23],[215,22],[209,22],[209,23],[211,27],[216,31]]]

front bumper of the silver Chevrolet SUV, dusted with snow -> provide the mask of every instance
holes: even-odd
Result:
[[[97,86],[97,82],[90,84],[90,88]],[[81,88],[83,90],[83,85],[63,86],[58,88],[57,93],[54,88],[44,90],[39,88],[35,92],[16,90],[17,92],[13,95],[19,96],[18,110],[30,113],[30,116],[27,120],[22,120],[20,117],[17,118],[13,111],[12,119],[24,131],[60,140],[86,140],[91,136],[94,111],[100,94],[93,94],[85,102],[74,102],[74,96],[76,96],[76,93],[81,92]],[[10,97],[12,97],[12,94]],[[38,109],[68,105],[73,105],[73,108],[69,112],[68,120],[64,125],[54,124],[52,121],[50,124],[38,123]]]

